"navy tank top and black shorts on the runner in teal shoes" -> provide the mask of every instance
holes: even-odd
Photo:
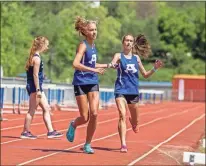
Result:
[[[86,45],[86,51],[81,59],[81,64],[95,68],[97,61],[97,50],[95,46],[91,47],[86,40],[83,41]],[[99,91],[98,74],[92,71],[75,70],[73,82],[74,93],[76,96],[87,94],[91,91]]]

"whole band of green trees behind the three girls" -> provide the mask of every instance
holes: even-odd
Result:
[[[108,63],[121,51],[125,34],[143,33],[152,55],[142,59],[146,70],[155,59],[164,62],[147,80],[171,81],[174,74],[205,74],[204,2],[1,2],[1,60],[5,76],[24,72],[32,39],[49,38],[50,49],[43,54],[45,72],[53,82],[71,83],[72,62],[83,39],[74,29],[76,16],[98,20],[98,63]],[[102,85],[113,86],[116,71],[100,76]],[[140,75],[141,80],[145,80]]]

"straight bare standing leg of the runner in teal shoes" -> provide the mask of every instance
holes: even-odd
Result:
[[[87,126],[86,143],[89,144],[92,141],[92,137],[97,127],[97,112],[99,109],[99,92],[98,91],[89,92],[88,99],[89,99],[89,107],[90,107],[90,114],[89,114],[90,120]]]

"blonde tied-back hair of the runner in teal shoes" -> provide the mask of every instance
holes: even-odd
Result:
[[[91,23],[94,23],[94,24],[98,24],[97,21],[95,20],[86,20],[85,18],[83,17],[80,17],[80,16],[77,16],[76,17],[76,20],[75,20],[75,29],[76,31],[78,31],[80,34],[82,34],[83,36],[86,37],[86,29],[87,29],[87,26]]]

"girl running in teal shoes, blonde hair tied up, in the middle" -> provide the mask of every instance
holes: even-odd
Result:
[[[94,40],[97,37],[97,22],[77,17],[75,29],[85,37],[77,49],[73,67],[75,68],[73,85],[74,94],[80,116],[72,121],[67,131],[67,139],[74,141],[75,130],[78,126],[88,122],[86,142],[83,151],[93,154],[91,141],[97,126],[97,112],[99,108],[99,80],[98,74],[104,74],[105,68],[111,64],[98,64],[97,50]]]

